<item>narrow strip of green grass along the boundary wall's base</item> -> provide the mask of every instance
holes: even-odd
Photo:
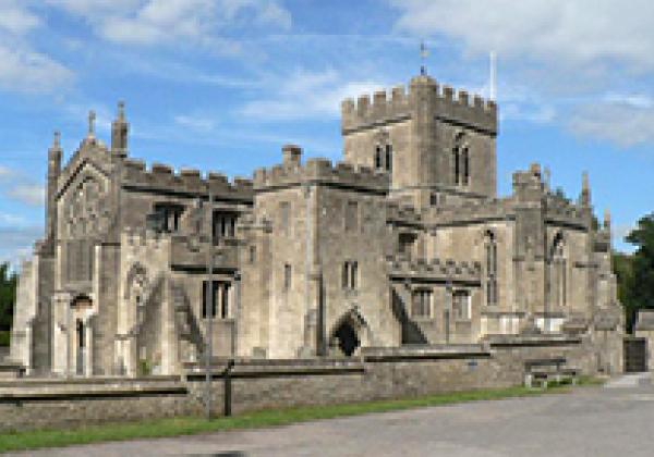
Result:
[[[580,385],[595,385],[595,380],[582,379],[580,380]],[[7,433],[0,434],[0,453],[106,441],[180,436],[225,430],[279,427],[310,420],[397,411],[426,406],[453,405],[464,402],[525,397],[542,395],[544,393],[567,392],[568,390],[568,386],[556,386],[546,391],[526,387],[481,390],[420,398],[263,410],[230,418],[217,418],[210,422],[199,417],[178,417],[140,422],[88,425],[69,430],[37,430]]]

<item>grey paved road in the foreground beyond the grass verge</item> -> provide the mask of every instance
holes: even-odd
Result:
[[[653,456],[654,387],[613,388],[386,412],[129,443],[47,456]]]

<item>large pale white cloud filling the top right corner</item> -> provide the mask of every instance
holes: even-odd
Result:
[[[473,53],[574,66],[622,62],[654,70],[654,3],[611,0],[391,0],[397,27],[445,35]]]

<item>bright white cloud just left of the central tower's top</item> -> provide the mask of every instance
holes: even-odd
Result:
[[[372,94],[388,85],[375,81],[348,82],[334,69],[323,72],[295,70],[284,75],[274,97],[245,103],[240,113],[263,121],[337,118],[348,97]]]

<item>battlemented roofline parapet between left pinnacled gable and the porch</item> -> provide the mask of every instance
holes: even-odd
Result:
[[[254,198],[252,181],[244,177],[234,177],[230,183],[221,173],[209,172],[206,177],[193,169],[174,173],[171,166],[161,163],[153,163],[150,170],[146,170],[145,162],[134,159],[122,161],[121,183],[123,187],[146,192],[164,190],[208,198],[210,189],[216,198],[238,201]]]

